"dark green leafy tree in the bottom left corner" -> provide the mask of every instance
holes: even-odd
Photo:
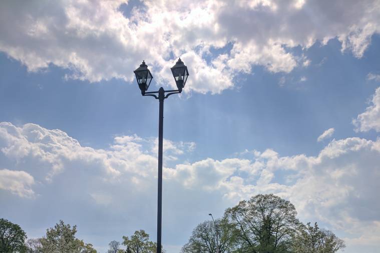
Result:
[[[26,239],[26,232],[18,224],[0,218],[0,252],[25,252],[27,250]]]

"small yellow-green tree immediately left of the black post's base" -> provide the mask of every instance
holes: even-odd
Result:
[[[144,230],[135,231],[135,233],[129,238],[123,236],[123,245],[127,246],[127,250],[132,253],[155,253],[157,243],[149,240],[149,234]],[[128,251],[127,251],[128,252]],[[165,252],[162,250],[162,252]]]

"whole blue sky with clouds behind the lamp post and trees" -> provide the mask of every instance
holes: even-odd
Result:
[[[380,246],[380,1],[57,0],[0,3],[0,216],[41,237],[60,219],[106,252],[163,246],[258,193],[291,201],[345,252]]]

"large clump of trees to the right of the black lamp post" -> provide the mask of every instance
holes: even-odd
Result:
[[[273,194],[259,194],[227,208],[221,219],[194,228],[182,253],[333,253],[345,247],[315,222],[303,224],[294,205]]]

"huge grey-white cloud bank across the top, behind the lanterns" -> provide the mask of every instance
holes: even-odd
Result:
[[[171,86],[169,67],[181,56],[191,75],[185,91],[220,93],[252,65],[287,73],[310,63],[285,48],[337,37],[342,51],[361,57],[380,27],[376,0],[148,0],[126,16],[122,3],[2,1],[0,50],[30,71],[55,64],[71,70],[67,78],[89,81],[131,81],[145,59]],[[228,45],[229,52],[211,53]]]

